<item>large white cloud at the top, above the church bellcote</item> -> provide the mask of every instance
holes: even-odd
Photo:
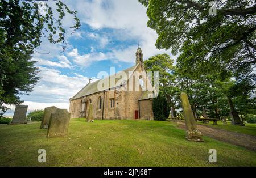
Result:
[[[89,8],[85,9],[84,7]],[[139,41],[144,59],[155,54],[170,54],[166,50],[156,49],[155,42],[158,35],[154,29],[147,27],[146,8],[137,0],[77,1],[76,9],[79,12],[81,22],[88,24],[90,27],[96,30],[113,29],[113,34],[109,36],[116,40],[133,39]],[[97,33],[89,33],[88,36],[98,39],[104,44],[104,37]],[[112,52],[108,53],[108,57],[122,62],[134,63],[137,47],[137,44],[123,49],[118,49],[117,46],[117,48],[112,49]]]

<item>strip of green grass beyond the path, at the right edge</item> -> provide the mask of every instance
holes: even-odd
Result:
[[[245,126],[232,125],[230,121],[226,125],[222,121],[218,121],[218,125],[213,125],[213,121],[208,124],[203,124],[203,121],[198,121],[197,124],[212,126],[214,128],[225,129],[232,132],[244,133],[256,136],[256,124],[247,123]]]

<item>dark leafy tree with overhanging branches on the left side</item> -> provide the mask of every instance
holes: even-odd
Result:
[[[49,42],[63,44],[66,48],[63,18],[65,13],[73,15],[75,24],[69,28],[80,28],[76,11],[71,11],[61,1],[55,1],[57,13],[53,13],[48,1],[2,0],[0,1],[0,117],[6,111],[3,104],[19,104],[19,95],[32,91],[39,78],[31,55],[41,44],[41,37]],[[57,18],[55,17],[57,16]]]

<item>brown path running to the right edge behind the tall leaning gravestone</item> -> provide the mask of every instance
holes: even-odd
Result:
[[[179,128],[185,130],[184,121],[171,120],[171,122],[176,122]],[[246,147],[247,149],[256,151],[256,137],[253,135],[230,132],[228,130],[213,128],[211,126],[200,125],[200,124],[197,124],[197,129],[199,129],[203,135],[208,136],[210,138],[231,143],[233,145]]]

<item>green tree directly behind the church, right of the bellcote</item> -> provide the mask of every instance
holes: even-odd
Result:
[[[147,71],[159,72],[159,91],[167,99],[168,105],[175,108],[176,101],[174,96],[178,88],[175,85],[175,66],[173,64],[174,60],[168,54],[158,54],[144,61]]]

